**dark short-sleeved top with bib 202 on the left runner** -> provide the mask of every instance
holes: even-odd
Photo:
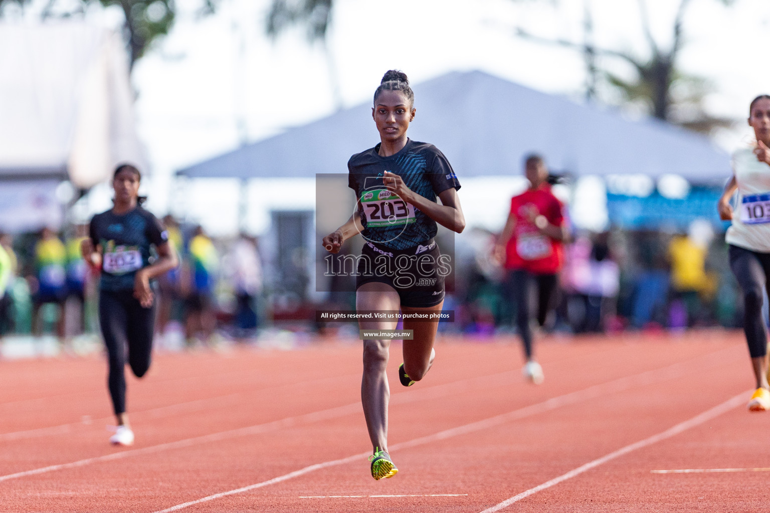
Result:
[[[95,215],[89,236],[94,245],[102,245],[103,291],[134,288],[136,271],[150,263],[150,245],[169,240],[158,219],[140,206],[123,215],[112,210]]]

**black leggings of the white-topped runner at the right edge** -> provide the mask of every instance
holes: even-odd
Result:
[[[752,358],[767,354],[767,333],[762,319],[762,288],[768,286],[770,253],[752,252],[730,245],[730,268],[743,289],[743,331]]]

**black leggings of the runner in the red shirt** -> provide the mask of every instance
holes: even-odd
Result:
[[[534,275],[523,269],[514,269],[508,273],[507,288],[516,305],[516,326],[524,342],[527,359],[532,357],[532,330],[529,325],[530,284],[537,281],[537,324],[544,325],[548,310],[551,308],[556,291],[557,275]]]

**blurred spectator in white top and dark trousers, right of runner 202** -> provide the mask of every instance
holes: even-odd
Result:
[[[256,240],[241,234],[230,250],[233,286],[236,293],[236,328],[240,335],[253,333],[258,325],[256,301],[262,291],[262,264]]]

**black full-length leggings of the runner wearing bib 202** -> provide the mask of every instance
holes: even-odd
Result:
[[[155,303],[142,308],[132,290],[99,293],[99,323],[107,346],[107,385],[115,415],[126,411],[126,348],[131,370],[137,378],[145,375],[152,353]]]

